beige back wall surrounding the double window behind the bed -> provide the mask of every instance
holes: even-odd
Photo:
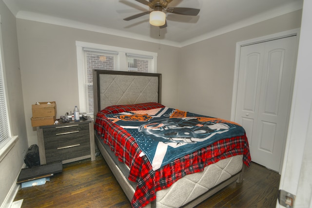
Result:
[[[157,72],[162,74],[162,103],[177,106],[179,48],[121,38],[53,24],[17,19],[20,71],[29,144],[37,143],[31,127],[31,105],[56,101],[57,117],[78,105],[76,41],[158,53]]]

